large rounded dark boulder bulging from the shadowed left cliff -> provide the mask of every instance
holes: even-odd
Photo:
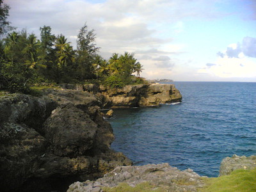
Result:
[[[72,105],[52,111],[44,124],[45,138],[52,143],[56,156],[77,157],[93,147],[97,124],[90,116]]]

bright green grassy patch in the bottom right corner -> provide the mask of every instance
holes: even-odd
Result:
[[[207,186],[200,191],[253,192],[256,191],[256,169],[235,170],[230,175],[209,178],[206,183]]]

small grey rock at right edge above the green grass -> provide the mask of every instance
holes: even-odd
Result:
[[[221,161],[220,176],[230,175],[231,172],[238,169],[252,170],[256,168],[256,156],[236,156],[226,157]]]

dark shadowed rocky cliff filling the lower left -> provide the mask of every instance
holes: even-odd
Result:
[[[99,106],[97,97],[77,90],[1,96],[1,190],[65,191],[74,181],[131,165],[110,149],[113,130]]]

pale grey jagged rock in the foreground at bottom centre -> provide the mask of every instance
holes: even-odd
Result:
[[[92,192],[103,191],[102,188],[113,188],[120,183],[136,186],[143,182],[149,182],[156,188],[165,191],[197,191],[205,183],[193,170],[180,171],[167,163],[147,164],[143,166],[118,166],[112,172],[95,181],[75,182],[69,186],[67,192]]]

